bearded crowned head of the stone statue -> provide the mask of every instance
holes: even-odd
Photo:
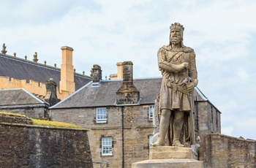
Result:
[[[173,34],[173,31],[179,31],[179,34]],[[184,31],[184,27],[183,25],[181,25],[181,23],[172,23],[170,25],[170,45],[172,42],[177,41],[181,42],[181,46],[183,46],[183,31]]]

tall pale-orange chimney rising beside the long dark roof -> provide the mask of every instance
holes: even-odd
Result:
[[[60,91],[75,92],[74,67],[72,65],[72,47],[61,47],[61,81],[59,82]]]

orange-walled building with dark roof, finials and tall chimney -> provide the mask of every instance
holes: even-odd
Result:
[[[91,77],[75,72],[72,65],[72,47],[61,47],[61,69],[54,66],[40,64],[38,54],[34,54],[33,61],[7,55],[6,46],[0,53],[0,88],[24,88],[26,91],[44,99],[46,95],[45,83],[52,78],[56,82],[58,99],[62,100],[74,93]]]

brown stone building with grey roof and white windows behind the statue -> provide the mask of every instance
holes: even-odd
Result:
[[[130,61],[122,63],[122,80],[101,80],[100,72],[100,66],[94,65],[91,73],[95,79],[50,107],[50,118],[91,129],[88,134],[94,163],[131,167],[133,162],[148,159],[154,102],[162,78],[133,79]],[[220,133],[219,110],[198,88],[195,99],[199,134]]]

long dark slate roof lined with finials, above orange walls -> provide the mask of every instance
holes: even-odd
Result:
[[[35,64],[33,61],[14,56],[3,56],[0,54],[0,76],[26,80],[27,83],[29,83],[29,80],[46,83],[46,80],[53,78],[59,87],[61,69],[45,64]],[[75,90],[78,90],[90,81],[91,78],[89,76],[75,74]]]

